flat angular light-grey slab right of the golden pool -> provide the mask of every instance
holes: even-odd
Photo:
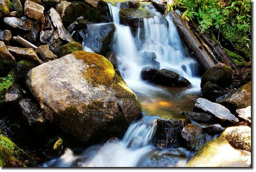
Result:
[[[222,123],[237,123],[239,120],[230,111],[218,103],[210,102],[209,100],[198,98],[193,111],[203,111],[211,114],[215,119]]]

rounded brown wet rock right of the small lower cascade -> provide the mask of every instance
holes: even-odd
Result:
[[[181,136],[185,139],[191,152],[197,151],[206,143],[206,134],[204,134],[201,127],[195,124],[186,125],[181,131]]]

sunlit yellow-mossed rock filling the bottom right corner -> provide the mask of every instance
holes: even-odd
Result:
[[[187,167],[249,167],[224,137],[203,145],[187,163]]]

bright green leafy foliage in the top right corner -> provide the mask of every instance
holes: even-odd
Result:
[[[173,0],[166,12],[178,6],[185,12],[182,18],[189,21],[196,19],[202,32],[209,33],[209,28],[230,22],[238,32],[251,32],[251,1],[250,0]]]

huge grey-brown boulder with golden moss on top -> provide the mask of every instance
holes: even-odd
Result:
[[[141,117],[136,95],[103,56],[77,51],[29,71],[27,85],[47,120],[83,143],[121,137]]]

